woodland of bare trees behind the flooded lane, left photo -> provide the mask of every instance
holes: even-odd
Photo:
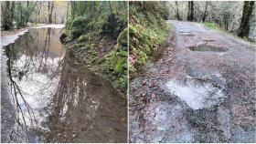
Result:
[[[1,29],[8,30],[33,24],[64,24],[69,3],[57,1],[1,2]]]

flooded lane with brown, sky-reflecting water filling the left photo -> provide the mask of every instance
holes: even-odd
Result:
[[[29,29],[4,47],[2,142],[126,142],[126,100],[65,50],[60,34]]]

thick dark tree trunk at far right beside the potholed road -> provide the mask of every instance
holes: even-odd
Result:
[[[254,6],[254,1],[245,1],[243,3],[242,17],[240,22],[240,28],[238,31],[238,36],[240,37],[249,36],[249,30],[250,30],[249,20],[251,18],[253,6]]]

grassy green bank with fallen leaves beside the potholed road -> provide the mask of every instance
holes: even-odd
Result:
[[[131,2],[129,24],[129,70],[131,73],[144,65],[167,37],[166,2]]]

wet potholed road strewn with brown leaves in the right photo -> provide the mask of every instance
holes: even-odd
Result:
[[[130,81],[130,140],[255,142],[255,46],[201,24],[169,23],[163,56]]]

